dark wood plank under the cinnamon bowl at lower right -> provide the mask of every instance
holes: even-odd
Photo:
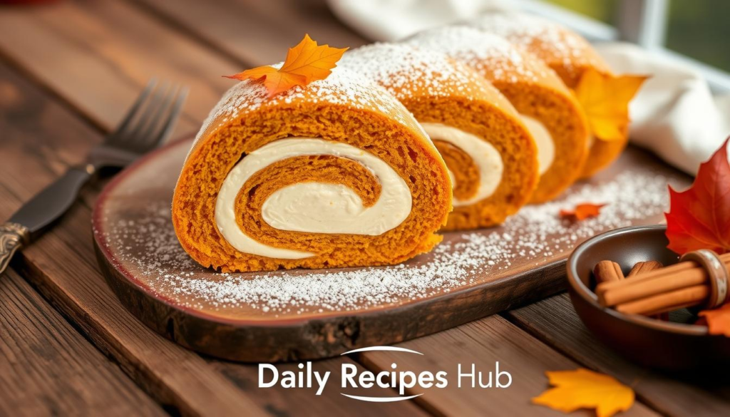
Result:
[[[588,332],[575,314],[567,294],[551,297],[504,315],[580,364],[610,373],[623,383],[633,384],[639,398],[662,414],[730,415],[728,380],[700,374],[688,379],[678,375],[664,375],[631,364]]]

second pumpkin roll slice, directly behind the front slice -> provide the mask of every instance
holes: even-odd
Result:
[[[339,65],[393,93],[429,134],[449,169],[454,210],[445,229],[502,223],[537,185],[537,149],[517,111],[468,66],[404,44],[351,50]]]

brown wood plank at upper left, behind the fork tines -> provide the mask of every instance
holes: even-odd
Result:
[[[177,132],[196,131],[240,70],[122,1],[4,7],[0,50],[104,130],[156,76],[191,88]]]

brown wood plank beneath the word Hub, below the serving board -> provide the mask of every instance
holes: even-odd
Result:
[[[401,352],[361,353],[358,360],[367,368],[377,371],[396,370],[412,372],[448,373],[448,386],[443,389],[412,389],[408,394],[421,394],[416,401],[426,410],[442,416],[561,416],[561,413],[532,405],[530,399],[548,388],[545,371],[574,370],[575,361],[557,353],[530,334],[518,329],[499,315],[493,315],[469,324],[458,326],[431,336],[421,337],[399,344],[402,348],[423,353],[423,356]],[[488,372],[510,372],[512,385],[506,389],[496,387],[472,388],[472,380],[461,378],[458,388],[458,364],[462,373],[481,371],[483,383],[489,380]],[[478,378],[478,376],[476,377]],[[493,385],[496,385],[496,375]],[[506,383],[507,378],[502,378]],[[583,410],[584,416],[593,412]],[[638,403],[622,416],[656,416],[656,413]]]

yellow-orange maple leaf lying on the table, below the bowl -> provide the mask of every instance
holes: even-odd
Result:
[[[563,413],[595,408],[596,416],[610,417],[634,405],[634,390],[609,375],[579,368],[575,371],[545,372],[553,389],[534,397],[537,405]]]

